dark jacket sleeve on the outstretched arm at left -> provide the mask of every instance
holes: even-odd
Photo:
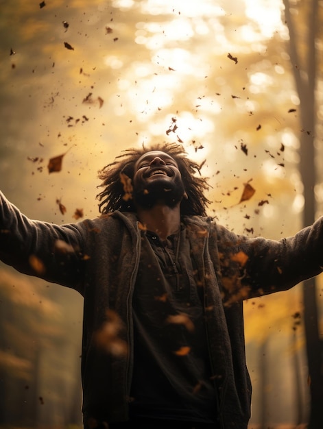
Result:
[[[81,291],[85,231],[28,219],[0,192],[0,260],[21,273]]]

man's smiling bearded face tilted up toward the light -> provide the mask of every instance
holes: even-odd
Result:
[[[142,208],[159,202],[173,208],[185,192],[176,160],[162,151],[147,152],[137,160],[133,188],[134,202]]]

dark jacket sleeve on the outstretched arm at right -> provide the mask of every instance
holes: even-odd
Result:
[[[323,217],[280,241],[216,229],[219,275],[231,302],[285,291],[323,270]]]

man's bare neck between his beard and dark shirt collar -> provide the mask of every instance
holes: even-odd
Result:
[[[165,240],[180,228],[180,204],[174,208],[164,204],[156,204],[149,209],[138,207],[137,214],[143,227],[158,234],[161,240]]]

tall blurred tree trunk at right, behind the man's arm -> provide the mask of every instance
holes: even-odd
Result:
[[[289,55],[293,66],[296,90],[300,98],[300,175],[304,185],[303,224],[311,225],[315,220],[315,123],[316,100],[315,87],[318,71],[315,39],[318,38],[318,0],[307,2],[307,14],[304,10],[298,14],[298,20],[307,23],[295,23],[291,16],[290,0],[283,0],[285,5],[285,21],[289,28]],[[293,3],[293,7],[295,4]],[[302,13],[303,12],[303,13]],[[307,28],[307,38],[302,45],[297,39],[297,28]],[[303,27],[302,27],[303,26]],[[304,34],[302,34],[304,39]],[[303,40],[304,42],[304,40]],[[303,51],[302,51],[303,49]],[[318,329],[318,303],[315,278],[304,282],[304,328],[307,342],[307,361],[309,365],[309,389],[311,393],[311,415],[309,429],[323,428],[323,358],[322,341]]]

